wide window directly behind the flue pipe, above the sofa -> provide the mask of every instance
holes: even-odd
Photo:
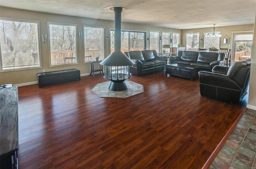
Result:
[[[142,51],[145,50],[146,32],[121,31],[121,51]],[[114,30],[110,31],[111,53],[114,51]]]

